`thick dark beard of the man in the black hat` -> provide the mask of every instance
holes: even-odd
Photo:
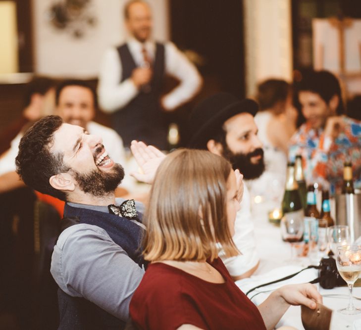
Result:
[[[251,162],[254,156],[262,156],[257,164]],[[257,179],[264,171],[263,149],[257,148],[249,153],[233,153],[228,146],[223,146],[223,157],[228,159],[234,170],[239,169],[246,180]]]

